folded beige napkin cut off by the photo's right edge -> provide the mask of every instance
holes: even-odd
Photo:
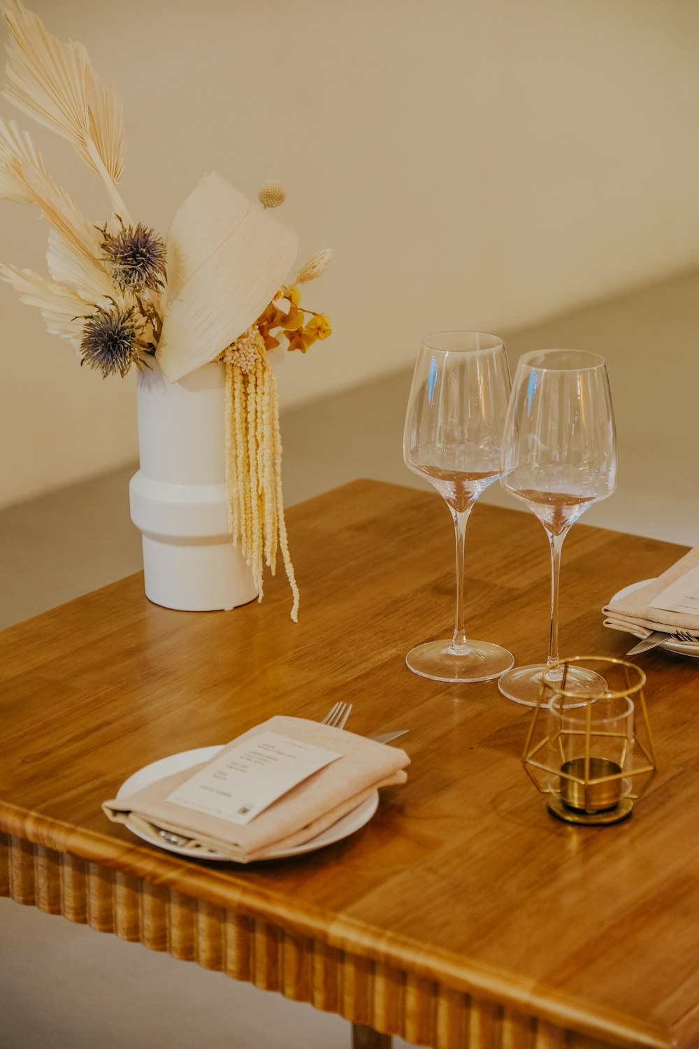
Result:
[[[602,609],[606,616],[605,626],[615,630],[626,630],[640,638],[648,637],[653,630],[664,630],[668,634],[674,630],[687,630],[696,634],[699,639],[699,615],[650,607],[650,602],[654,601],[663,590],[696,568],[699,568],[699,547],[680,557],[672,568],[646,586],[640,586],[618,601],[610,601]]]

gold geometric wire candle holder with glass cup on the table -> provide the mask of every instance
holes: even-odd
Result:
[[[598,691],[568,687],[575,664],[600,676]],[[573,656],[546,670],[522,763],[559,819],[614,823],[647,790],[656,764],[645,684],[642,670],[613,657]]]

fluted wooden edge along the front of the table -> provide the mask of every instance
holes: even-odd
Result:
[[[148,866],[148,870],[139,868]],[[467,960],[269,894],[206,883],[138,847],[3,806],[0,895],[433,1049],[672,1049]],[[190,877],[188,878],[188,870]],[[197,890],[199,892],[197,892]],[[233,890],[233,892],[232,892]]]

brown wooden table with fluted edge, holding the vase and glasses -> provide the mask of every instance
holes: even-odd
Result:
[[[631,819],[560,822],[520,764],[530,711],[494,682],[405,666],[451,631],[450,518],[435,494],[356,481],[288,513],[299,625],[280,574],[262,604],[185,614],[136,575],[0,635],[0,894],[346,1016],[356,1045],[699,1045],[699,664],[638,657],[660,774]],[[621,655],[599,609],[683,552],[576,524],[563,655]],[[477,507],[475,636],[545,654],[548,544]],[[350,700],[357,732],[409,727],[408,784],[352,837],[294,859],[187,861],[109,823],[134,770],[272,712]],[[402,741],[401,741],[402,742]]]

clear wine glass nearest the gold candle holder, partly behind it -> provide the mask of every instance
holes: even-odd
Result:
[[[614,412],[603,357],[576,349],[546,349],[520,359],[505,424],[500,480],[537,515],[551,548],[548,661],[515,667],[498,682],[508,699],[536,706],[542,673],[559,658],[563,540],[581,514],[616,488]],[[604,678],[583,667],[570,667],[568,680],[569,687],[578,692],[606,688]]]

